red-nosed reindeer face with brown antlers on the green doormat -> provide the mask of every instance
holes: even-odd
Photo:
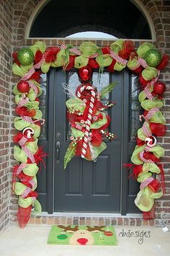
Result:
[[[102,228],[104,226],[87,226],[87,229],[79,229],[79,226],[75,226],[71,228],[71,226],[62,226],[58,225],[63,231],[67,231],[68,233],[73,233],[73,236],[69,239],[70,244],[79,244],[79,245],[87,245],[93,244],[94,238],[92,233],[97,233],[99,231],[104,231]]]

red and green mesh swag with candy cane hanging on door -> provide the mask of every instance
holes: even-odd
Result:
[[[102,137],[107,137],[112,141],[113,133],[105,131],[110,123],[109,115],[103,110],[115,105],[107,102],[103,105],[104,96],[112,92],[117,83],[111,83],[104,87],[101,92],[92,87],[91,84],[80,84],[76,89],[76,95],[66,101],[68,107],[67,118],[71,123],[71,144],[68,146],[64,157],[64,169],[73,156],[81,156],[89,161],[96,161],[97,156],[106,149],[106,144]],[[65,87],[66,94],[70,89]],[[70,93],[69,93],[70,94]]]

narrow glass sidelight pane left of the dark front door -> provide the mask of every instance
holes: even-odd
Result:
[[[40,76],[40,87],[42,89],[42,94],[40,95],[40,110],[42,111],[42,118],[47,119],[48,110],[48,90],[47,90],[47,75],[41,74]],[[40,137],[41,140],[47,139],[47,122],[41,126]]]

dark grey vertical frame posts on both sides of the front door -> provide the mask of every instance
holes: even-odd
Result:
[[[53,145],[49,146],[48,149],[48,158],[47,158],[47,194],[48,194],[48,213],[53,214],[54,212],[54,161],[55,161],[55,124],[50,125],[50,118],[55,115],[55,86],[50,87],[50,84],[55,84],[56,72],[58,75],[62,72],[63,69],[54,69],[50,68],[48,72],[47,81],[48,81],[48,144]],[[66,82],[66,81],[63,81]],[[127,172],[123,168],[123,164],[128,161],[128,131],[129,131],[129,104],[130,104],[130,76],[127,69],[122,71],[122,142],[121,142],[121,181],[120,181],[120,214],[125,216],[127,209],[127,196],[128,196],[128,182],[127,182]],[[133,145],[134,147],[134,145]],[[133,151],[132,147],[132,151]],[[106,212],[107,213],[107,212]]]

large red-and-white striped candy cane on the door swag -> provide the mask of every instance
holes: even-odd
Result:
[[[81,97],[81,93],[85,89],[88,89],[91,92],[91,97],[90,97],[90,103],[89,103],[89,112],[88,112],[88,116],[87,116],[87,120],[86,120],[86,131],[84,133],[84,142],[83,142],[83,146],[81,149],[81,157],[82,158],[84,158],[86,156],[86,148],[89,143],[89,131],[90,131],[92,113],[93,113],[93,109],[94,109],[94,100],[95,100],[95,96],[96,96],[93,87],[91,87],[89,85],[84,85],[77,92],[77,97]]]

